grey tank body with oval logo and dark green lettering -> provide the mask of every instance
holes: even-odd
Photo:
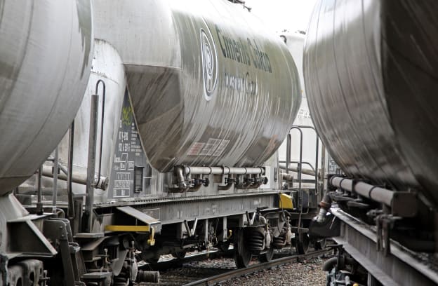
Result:
[[[225,0],[93,1],[124,62],[151,165],[263,165],[300,107],[286,45]]]

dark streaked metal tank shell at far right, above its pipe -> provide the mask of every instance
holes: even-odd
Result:
[[[438,203],[437,1],[318,1],[304,75],[314,125],[347,173]]]

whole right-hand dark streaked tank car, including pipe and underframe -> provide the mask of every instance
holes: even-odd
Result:
[[[437,11],[434,1],[409,0],[321,0],[314,8],[307,99],[345,173],[328,177],[310,231],[343,244],[345,263],[325,267],[331,285],[438,282],[423,254],[437,252]]]

